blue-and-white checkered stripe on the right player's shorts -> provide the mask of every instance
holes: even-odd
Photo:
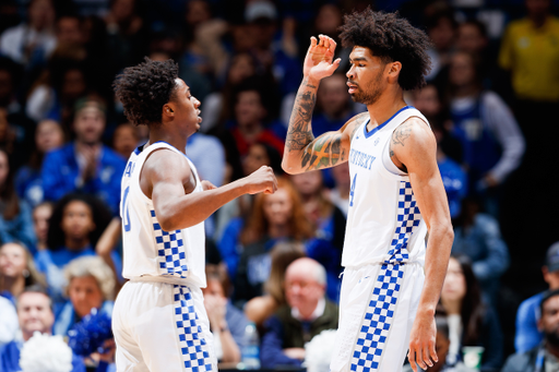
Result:
[[[352,371],[378,370],[403,277],[402,265],[381,266],[352,356]]]

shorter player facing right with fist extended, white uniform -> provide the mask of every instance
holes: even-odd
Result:
[[[112,315],[117,371],[217,371],[200,290],[205,287],[204,219],[245,193],[273,193],[263,166],[215,188],[185,154],[200,128],[200,101],[171,60],[146,59],[115,82],[128,119],[150,128],[122,175],[123,277]]]

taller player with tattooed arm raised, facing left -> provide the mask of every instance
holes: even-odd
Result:
[[[352,189],[342,265],[340,328],[331,371],[401,371],[437,361],[435,308],[453,232],[427,119],[403,92],[425,84],[427,36],[395,14],[345,16],[349,95],[367,112],[314,139],[320,80],[340,64],[335,41],[311,37],[283,158],[288,173],[349,161]],[[429,231],[427,249],[426,233]],[[425,272],[425,274],[424,274]]]

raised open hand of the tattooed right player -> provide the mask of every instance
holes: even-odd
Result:
[[[312,80],[321,80],[332,75],[342,61],[338,58],[332,62],[335,50],[336,41],[333,38],[319,35],[317,40],[312,36],[309,50],[307,50],[307,57],[305,57],[305,63],[302,64],[302,74]]]

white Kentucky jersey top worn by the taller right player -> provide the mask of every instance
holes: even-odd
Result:
[[[409,177],[390,159],[394,130],[411,117],[427,119],[406,106],[367,132],[362,123],[349,152],[349,212],[342,265],[425,262],[427,227],[412,191]]]

